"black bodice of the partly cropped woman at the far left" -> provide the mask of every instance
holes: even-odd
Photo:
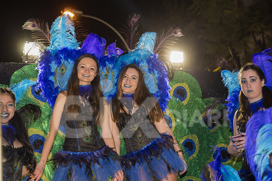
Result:
[[[22,167],[28,164],[30,154],[25,146],[13,148],[2,145],[3,180],[21,180]]]

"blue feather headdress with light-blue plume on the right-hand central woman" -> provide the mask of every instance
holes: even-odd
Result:
[[[167,108],[170,99],[169,81],[166,68],[153,53],[156,43],[156,33],[146,32],[139,39],[136,49],[120,56],[115,60],[118,72],[125,65],[136,64],[144,74],[144,81],[150,93],[158,100],[163,111]]]

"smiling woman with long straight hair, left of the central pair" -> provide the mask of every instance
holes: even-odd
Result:
[[[40,162],[31,180],[42,175],[60,124],[65,126],[65,140],[63,150],[53,155],[53,181],[123,180],[108,113],[98,61],[95,56],[84,54],[75,61],[67,90],[57,96]]]

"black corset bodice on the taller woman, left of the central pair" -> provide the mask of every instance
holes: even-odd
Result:
[[[70,119],[64,106],[61,123],[65,126],[64,151],[96,151],[105,146],[92,116],[89,100],[81,97],[77,119]]]

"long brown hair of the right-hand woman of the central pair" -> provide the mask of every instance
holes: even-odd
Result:
[[[136,88],[134,97],[133,97],[134,103],[138,106],[143,104],[146,107],[147,114],[149,118],[151,119],[151,122],[160,122],[160,119],[164,117],[164,114],[160,108],[158,101],[152,96],[152,94],[147,89],[146,84],[144,82],[144,76],[142,71],[135,64],[126,65],[119,74],[118,84],[117,84],[117,94],[112,100],[112,106],[115,106],[115,111],[113,113],[114,114],[113,121],[119,122],[120,110],[123,110],[124,113],[128,116],[128,114],[124,110],[124,106],[119,101],[123,95],[122,81],[128,68],[134,68],[139,74],[138,87]]]

